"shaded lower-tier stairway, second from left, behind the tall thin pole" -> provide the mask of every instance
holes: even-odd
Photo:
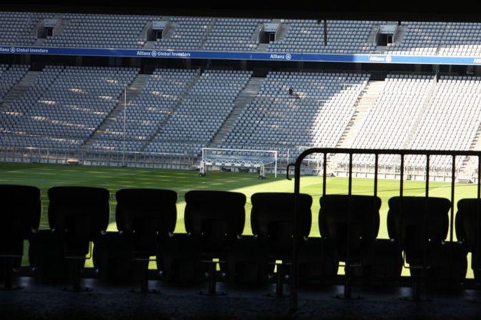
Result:
[[[94,141],[100,139],[100,136],[105,132],[105,129],[111,124],[111,122],[115,121],[117,117],[122,117],[125,107],[124,102],[128,104],[128,102],[134,100],[142,89],[144,89],[151,76],[152,75],[150,74],[137,74],[131,85],[127,88],[126,98],[124,99],[124,93],[120,95],[117,105],[112,109],[111,113],[105,117],[104,121],[98,126],[93,135],[91,135],[91,137],[80,146],[79,150],[89,149]]]

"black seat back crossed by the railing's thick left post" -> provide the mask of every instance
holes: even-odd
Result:
[[[267,241],[269,255],[287,258],[292,251],[295,195],[284,192],[260,192],[251,196],[252,232]],[[301,237],[311,232],[312,197],[300,194],[298,230]]]

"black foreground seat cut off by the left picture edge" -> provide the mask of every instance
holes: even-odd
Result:
[[[41,218],[40,189],[28,185],[0,185],[0,270],[7,289],[13,268],[21,266],[23,242],[38,231]]]

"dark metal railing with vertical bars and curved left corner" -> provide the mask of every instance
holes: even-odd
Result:
[[[302,163],[306,157],[322,154],[323,165],[322,165],[322,196],[326,196],[326,163],[329,154],[347,154],[349,157],[348,162],[348,196],[353,195],[353,155],[374,155],[374,187],[373,196],[378,194],[378,179],[379,179],[379,155],[399,155],[401,157],[401,164],[399,165],[399,196],[403,197],[404,180],[405,180],[405,156],[406,155],[423,155],[426,157],[425,163],[425,197],[429,197],[429,159],[433,155],[443,155],[452,158],[451,163],[451,207],[449,209],[449,241],[454,240],[454,191],[456,185],[456,157],[458,156],[474,156],[478,157],[478,179],[477,179],[477,195],[478,199],[481,198],[481,151],[462,151],[462,150],[388,150],[388,149],[347,149],[347,148],[311,148],[302,152],[296,159],[295,163],[291,163],[287,167],[287,179],[289,178],[289,167],[295,168],[295,183],[294,183],[294,193],[295,193],[295,205],[293,212],[293,248],[292,248],[292,268],[291,268],[291,310],[297,310],[298,308],[298,276],[299,276],[299,248],[302,236],[300,236],[299,231],[299,221],[298,216],[300,215],[300,177]],[[350,201],[349,201],[350,202]],[[425,207],[425,210],[427,207]],[[480,208],[481,209],[481,208]],[[348,228],[350,216],[353,212],[353,207],[351,204],[348,205]],[[427,217],[427,215],[426,215]],[[427,219],[427,218],[426,218]],[[479,215],[478,215],[479,219]],[[479,223],[478,223],[479,225]],[[427,230],[427,220],[425,220],[425,229]],[[348,231],[349,232],[349,231]],[[348,235],[349,237],[349,235]],[[426,257],[427,248],[424,248],[424,263],[421,268],[423,271],[427,268]],[[348,257],[346,258],[346,265],[349,262],[349,251]],[[344,285],[344,297],[350,298],[351,295],[351,283],[350,274],[346,273],[346,282]],[[419,297],[418,292],[414,292],[418,288],[413,288],[413,297]]]

